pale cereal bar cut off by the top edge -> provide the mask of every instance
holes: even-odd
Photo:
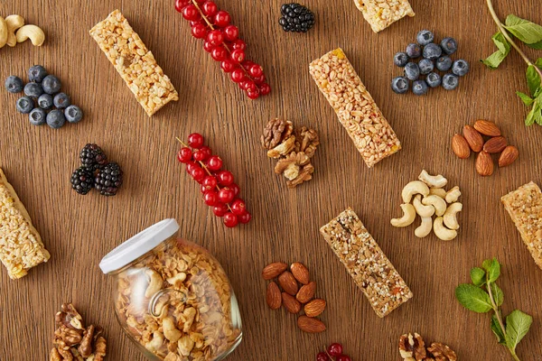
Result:
[[[381,32],[405,16],[414,16],[408,0],[354,0],[373,32]]]

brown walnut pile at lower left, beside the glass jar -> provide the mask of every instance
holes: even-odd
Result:
[[[106,357],[106,338],[102,329],[90,325],[85,327],[83,318],[71,303],[62,304],[61,311],[54,317],[54,331],[51,361],[103,361]]]

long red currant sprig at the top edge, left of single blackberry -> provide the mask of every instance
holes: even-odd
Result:
[[[229,23],[228,12],[210,0],[175,0],[175,9],[190,21],[192,36],[203,40],[203,49],[220,61],[220,69],[229,73],[247,97],[257,99],[271,92],[262,67],[245,60],[247,44],[238,39],[239,29]]]

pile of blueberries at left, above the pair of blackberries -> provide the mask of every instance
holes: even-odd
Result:
[[[70,97],[61,93],[61,80],[47,73],[41,65],[28,69],[29,83],[19,77],[5,79],[5,89],[10,93],[24,91],[24,97],[17,99],[17,111],[28,114],[32,125],[47,125],[59,129],[66,123],[78,123],[83,117],[79,106],[72,106]]]

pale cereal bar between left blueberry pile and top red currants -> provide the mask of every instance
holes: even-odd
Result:
[[[148,116],[153,116],[162,106],[179,100],[177,90],[164,70],[154,60],[137,32],[118,10],[90,29],[90,35],[98,42],[107,59]]]

